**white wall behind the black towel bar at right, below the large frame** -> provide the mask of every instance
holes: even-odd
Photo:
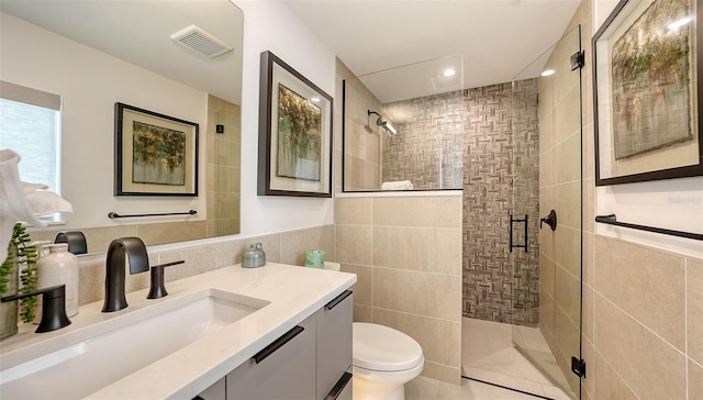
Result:
[[[593,32],[598,32],[617,3],[593,2]],[[703,233],[703,177],[598,187],[595,203],[596,215],[613,213],[621,222]],[[596,224],[596,229],[600,234],[703,258],[700,241],[606,224]]]

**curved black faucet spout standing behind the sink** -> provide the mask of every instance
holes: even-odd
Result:
[[[130,275],[149,270],[146,246],[138,237],[115,238],[108,247],[105,263],[105,301],[102,312],[119,311],[127,307],[124,296],[124,263],[130,264]]]

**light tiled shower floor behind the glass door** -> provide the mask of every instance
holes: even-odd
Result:
[[[548,352],[535,331],[520,330],[518,340]],[[551,399],[570,399],[513,345],[512,325],[464,318],[461,335],[464,376]]]

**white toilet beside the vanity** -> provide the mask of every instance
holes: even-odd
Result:
[[[392,327],[354,323],[354,400],[402,400],[405,384],[422,373],[425,357],[412,337]]]

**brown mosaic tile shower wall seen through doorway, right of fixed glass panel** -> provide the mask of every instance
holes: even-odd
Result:
[[[467,90],[462,313],[535,325],[539,302],[538,224],[535,225],[539,221],[537,84],[531,79],[514,85],[514,92],[512,84]],[[514,116],[520,121],[513,123]],[[516,192],[514,173],[523,177]],[[515,210],[516,204],[521,204],[520,210]],[[522,248],[510,253],[511,212],[521,219],[527,213],[532,221],[528,253]],[[516,243],[523,240],[515,237]],[[513,269],[513,255],[517,256],[517,270]]]

